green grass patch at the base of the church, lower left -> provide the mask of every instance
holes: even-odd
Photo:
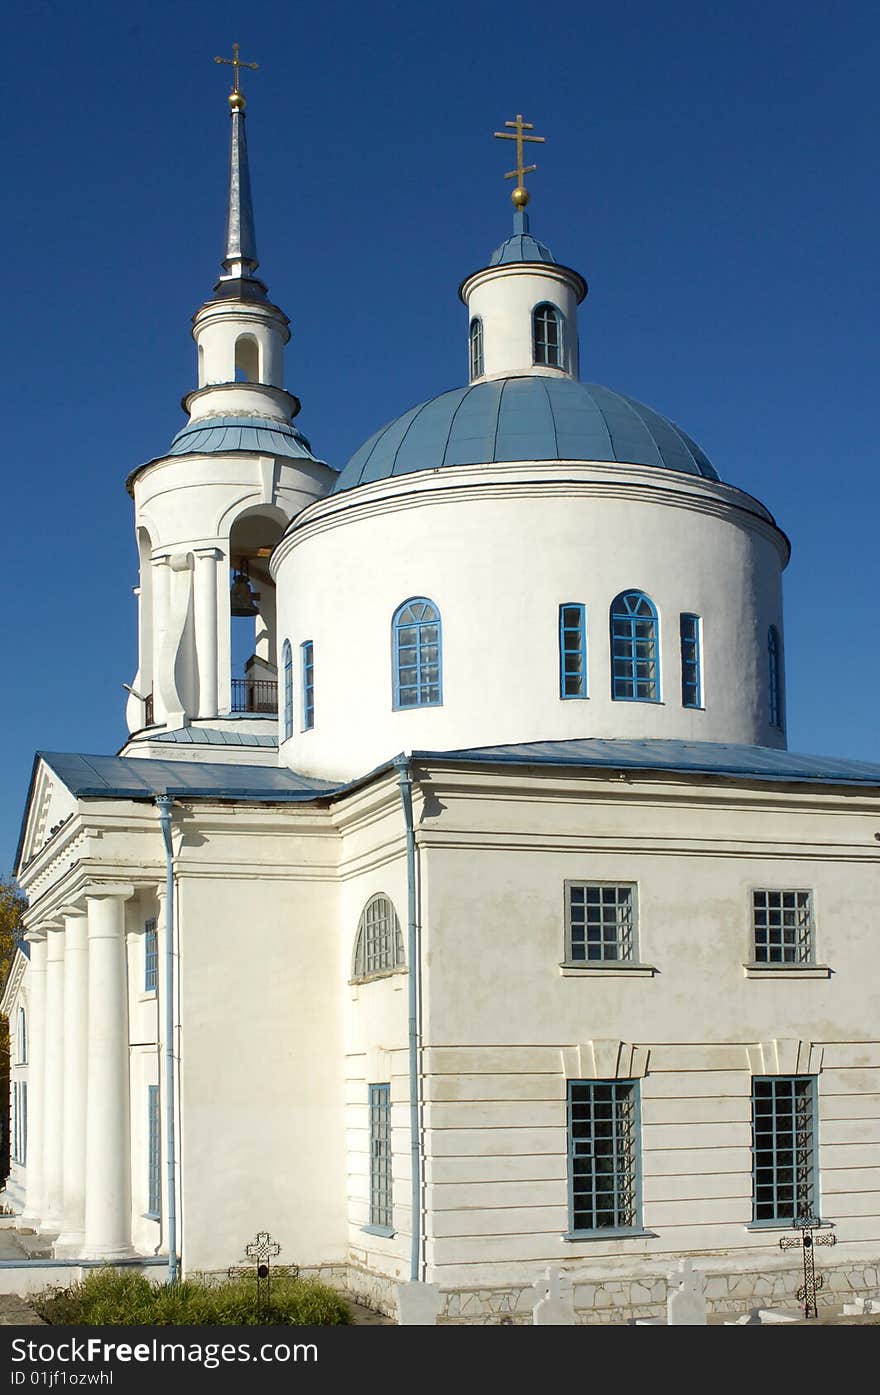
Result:
[[[258,1303],[251,1278],[181,1279],[151,1283],[131,1269],[93,1269],[68,1289],[43,1289],[29,1300],[54,1325],[135,1327],[329,1327],[350,1321],[349,1307],[317,1279],[272,1279],[268,1303]]]

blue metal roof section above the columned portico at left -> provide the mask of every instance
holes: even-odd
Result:
[[[339,788],[279,766],[209,764],[201,760],[153,760],[141,756],[79,756],[39,751],[77,799],[152,799],[158,794],[187,799],[248,799],[296,804]]]

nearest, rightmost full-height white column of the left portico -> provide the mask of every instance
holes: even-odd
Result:
[[[132,887],[89,893],[84,1258],[131,1253],[128,975],[124,903]]]

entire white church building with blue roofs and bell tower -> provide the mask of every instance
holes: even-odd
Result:
[[[324,462],[230,117],[188,418],[127,481],[130,737],[35,759],[1,1200],[59,1258],[268,1230],[448,1321],[527,1321],[548,1265],[579,1321],[657,1314],[682,1257],[791,1300],[805,1218],[826,1296],[876,1293],[880,767],[787,749],[785,534],[580,381],[519,117],[467,382]]]

